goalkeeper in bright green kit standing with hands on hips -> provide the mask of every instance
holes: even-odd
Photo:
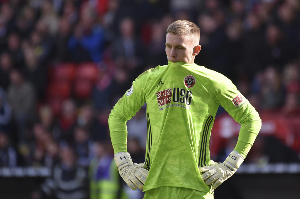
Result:
[[[132,189],[143,189],[144,198],[213,198],[214,189],[242,164],[260,130],[258,113],[236,86],[194,63],[199,38],[200,29],[192,22],[170,24],[165,44],[169,64],[136,78],[109,116],[119,173]],[[137,165],[127,153],[126,121],[145,102],[146,162]],[[209,152],[219,105],[242,125],[236,147],[223,163],[211,161]]]

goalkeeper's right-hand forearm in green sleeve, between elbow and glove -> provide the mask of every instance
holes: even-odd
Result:
[[[262,121],[259,116],[256,119],[242,123],[234,151],[240,153],[244,159],[250,151],[261,126]]]

